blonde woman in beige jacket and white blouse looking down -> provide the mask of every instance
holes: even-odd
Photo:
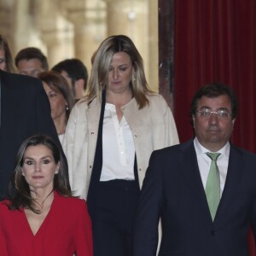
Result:
[[[87,200],[96,256],[132,255],[133,218],[149,157],[177,143],[172,111],[148,89],[131,39],[105,39],[63,145],[71,188]]]

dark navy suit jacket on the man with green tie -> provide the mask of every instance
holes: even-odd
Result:
[[[154,151],[135,224],[134,256],[245,256],[256,229],[256,155],[230,146],[224,192],[212,223],[193,140]],[[255,233],[255,232],[254,232]]]

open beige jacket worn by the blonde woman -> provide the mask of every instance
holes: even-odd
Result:
[[[149,106],[140,110],[134,98],[122,107],[134,138],[140,187],[153,150],[178,143],[172,111],[164,98],[155,94],[148,100]],[[71,188],[84,199],[90,184],[100,112],[101,103],[96,99],[90,106],[88,102],[78,102],[69,116],[63,142]]]

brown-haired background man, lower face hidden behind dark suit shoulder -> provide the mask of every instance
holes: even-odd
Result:
[[[43,52],[35,47],[20,49],[15,56],[15,65],[20,74],[38,77],[38,73],[48,71],[48,61]]]

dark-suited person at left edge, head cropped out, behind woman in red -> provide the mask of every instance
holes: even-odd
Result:
[[[7,195],[20,143],[44,133],[61,147],[42,82],[0,70],[0,201]]]

